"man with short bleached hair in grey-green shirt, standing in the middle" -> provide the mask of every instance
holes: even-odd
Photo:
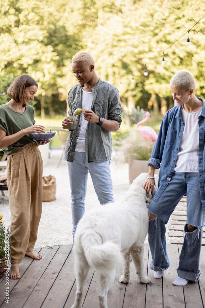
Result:
[[[69,115],[82,108],[76,131],[70,132],[65,147],[71,188],[73,236],[85,211],[88,172],[100,204],[114,202],[110,159],[111,131],[121,124],[119,91],[102,81],[95,73],[95,62],[88,52],[80,51],[72,59],[72,70],[78,84],[68,93]],[[67,118],[63,128],[72,122]]]

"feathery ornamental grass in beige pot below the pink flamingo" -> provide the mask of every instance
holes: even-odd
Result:
[[[152,154],[155,142],[144,140],[136,131],[131,130],[129,135],[122,141],[122,159],[129,164],[129,181],[132,181],[142,172],[148,172],[148,159]],[[156,169],[159,174],[160,169]]]

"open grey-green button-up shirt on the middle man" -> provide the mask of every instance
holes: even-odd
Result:
[[[91,110],[108,120],[115,120],[119,123],[121,120],[121,102],[119,91],[110,83],[102,81],[92,87],[93,103]],[[73,115],[75,109],[82,108],[82,85],[76,84],[68,93],[69,115]],[[73,161],[77,136],[81,126],[81,117],[76,122],[76,131],[70,132],[65,146],[65,160]],[[87,162],[106,161],[111,158],[112,138],[111,132],[108,132],[96,123],[88,122],[85,133],[85,155]]]

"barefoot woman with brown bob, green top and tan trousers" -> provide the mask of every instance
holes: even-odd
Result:
[[[38,145],[29,134],[44,132],[36,125],[34,108],[28,105],[38,89],[29,75],[17,77],[7,90],[11,100],[0,105],[0,148],[7,157],[7,181],[11,210],[11,267],[9,277],[19,279],[18,264],[25,255],[36,260],[37,230],[42,211],[43,162]]]

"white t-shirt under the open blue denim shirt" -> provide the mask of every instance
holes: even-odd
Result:
[[[182,106],[181,113],[184,129],[179,144],[176,172],[199,172],[199,123],[202,108],[195,112],[186,112]]]

